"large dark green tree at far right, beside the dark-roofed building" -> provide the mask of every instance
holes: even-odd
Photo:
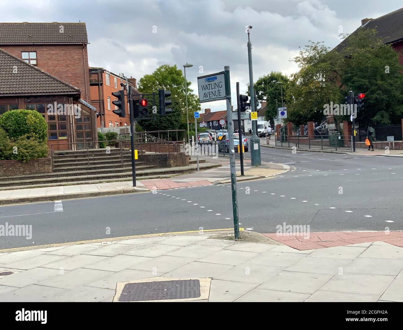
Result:
[[[346,91],[364,93],[360,125],[395,124],[403,114],[403,66],[391,44],[376,37],[375,29],[358,29],[345,39],[341,84]]]

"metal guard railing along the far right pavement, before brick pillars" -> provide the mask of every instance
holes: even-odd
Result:
[[[276,136],[276,146],[297,147],[308,149],[352,150],[351,135],[279,135]]]

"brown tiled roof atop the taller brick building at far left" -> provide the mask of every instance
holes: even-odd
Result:
[[[0,45],[15,44],[88,44],[87,28],[85,23],[0,23]]]

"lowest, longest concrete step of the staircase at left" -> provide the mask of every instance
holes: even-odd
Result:
[[[200,164],[200,170],[208,170],[210,168],[220,167],[220,164]],[[136,179],[150,179],[150,178],[167,178],[179,174],[193,173],[196,170],[195,165],[173,167],[173,168],[153,168],[153,169],[140,169],[136,170]],[[57,173],[60,174],[60,173]],[[130,181],[131,168],[127,172],[122,173],[109,173],[98,175],[80,175],[80,176],[59,176],[57,178],[41,178],[36,180],[16,180],[8,181],[4,185],[0,180],[0,190],[8,189],[26,189],[26,188],[40,188],[40,187],[54,187],[65,185],[82,185],[89,183],[102,183],[102,182],[115,182],[115,181]]]

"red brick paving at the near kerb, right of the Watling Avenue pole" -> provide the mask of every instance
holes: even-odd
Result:
[[[309,238],[301,234],[263,234],[274,241],[298,250],[322,249],[350,244],[382,241],[403,247],[403,231],[365,232],[310,232]]]

